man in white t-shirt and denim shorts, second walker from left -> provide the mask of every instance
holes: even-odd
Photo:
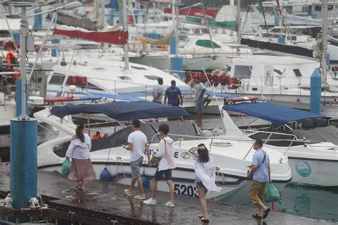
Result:
[[[138,183],[140,194],[135,196],[135,199],[145,199],[143,183],[140,177],[140,167],[143,163],[144,149],[147,151],[148,164],[150,166],[150,152],[147,141],[147,136],[140,131],[140,120],[133,120],[133,132],[128,136],[128,145],[123,146],[130,151],[130,167],[131,167],[131,184],[130,188],[124,190],[129,197],[133,196],[133,188],[135,183]]]

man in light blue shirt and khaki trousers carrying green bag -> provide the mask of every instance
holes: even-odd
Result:
[[[255,140],[253,148],[255,153],[252,157],[252,165],[247,173],[251,179],[250,200],[258,207],[258,211],[252,215],[256,219],[265,219],[270,212],[270,208],[264,204],[264,193],[267,183],[271,182],[270,158],[267,152],[262,150],[262,140]]]

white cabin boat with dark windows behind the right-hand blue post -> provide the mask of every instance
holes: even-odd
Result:
[[[257,96],[268,102],[309,110],[310,77],[319,63],[291,56],[248,56],[232,60],[229,75],[240,85],[225,93]],[[329,85],[328,85],[329,84]],[[337,117],[338,83],[331,76],[323,84],[322,114]]]

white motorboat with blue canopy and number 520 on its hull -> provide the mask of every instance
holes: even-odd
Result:
[[[159,117],[180,117],[188,113],[179,107],[168,107],[149,102],[115,102],[106,104],[86,105],[65,105],[59,108],[46,108],[36,112],[34,117],[38,120],[53,125],[58,130],[58,137],[44,142],[38,147],[39,169],[48,171],[61,171],[61,164],[64,161],[65,153],[72,136],[75,134],[76,125],[71,120],[71,115],[78,113],[101,113],[114,120],[120,125],[123,121],[141,119],[140,129],[145,132],[150,143],[150,150],[158,148],[158,126],[161,122],[146,122],[150,118]],[[252,141],[239,141],[232,139],[203,137],[203,132],[191,122],[168,121],[170,125],[170,137],[175,140],[175,163],[173,170],[173,182],[176,194],[183,194],[190,197],[198,197],[195,188],[195,172],[193,169],[193,157],[189,150],[200,143],[210,150],[215,158],[217,167],[217,185],[222,188],[220,193],[208,193],[208,198],[226,197],[237,194],[243,196],[245,187],[250,184],[246,179],[247,167],[251,164],[253,155]],[[112,181],[121,184],[130,183],[130,152],[121,147],[126,144],[131,127],[90,127],[88,130],[101,134],[106,133],[108,137],[102,137],[92,141],[91,161],[96,171],[97,178],[100,177],[103,169],[107,168],[112,175]],[[272,179],[277,185],[284,185],[291,179],[291,171],[287,156],[280,152],[267,148],[270,155],[272,167]],[[148,181],[153,177],[155,168],[148,167],[146,160],[143,162],[143,177]],[[158,189],[168,192],[165,182],[159,182]]]

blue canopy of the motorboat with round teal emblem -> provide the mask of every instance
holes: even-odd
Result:
[[[294,108],[287,108],[285,106],[275,105],[272,103],[238,103],[225,105],[223,106],[223,110],[252,115],[275,124],[285,124],[287,122],[309,118],[329,118],[308,111],[296,110]]]

